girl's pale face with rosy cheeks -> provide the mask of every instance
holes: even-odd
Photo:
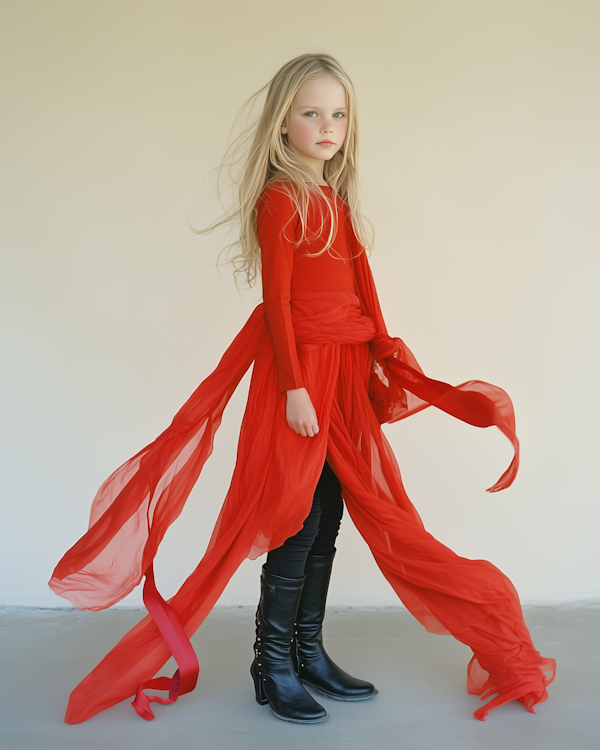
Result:
[[[281,132],[323,182],[325,162],[337,153],[348,129],[346,89],[325,73],[305,81],[294,96]]]

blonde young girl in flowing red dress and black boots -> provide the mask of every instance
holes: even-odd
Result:
[[[388,335],[357,197],[356,99],[340,64],[301,55],[267,86],[260,119],[241,137],[252,142],[239,202],[223,220],[239,219],[236,272],[252,283],[261,271],[264,301],[172,424],[101,486],[89,530],[54,571],[52,589],[93,610],[145,576],[149,610],[75,688],[65,720],[84,721],[134,693],[136,711],[152,719],[151,701],[172,703],[193,690],[198,662],[189,637],[240,563],[264,553],[250,669],[256,700],[280,719],[312,723],[328,713],[305,684],[337,700],[376,695],[323,647],[344,504],[409,611],[428,631],[451,633],[472,649],[469,692],[496,694],[476,718],[514,699],[533,711],[547,698],[554,660],[535,650],[511,582],[425,531],[380,427],[430,405],[479,427],[496,425],[515,457],[495,492],[518,466],[512,403],[489,383],[452,387],[428,378],[401,339]],[[229,491],[204,557],[167,604],[152,561],[251,365]],[[152,679],[171,655],[175,675]],[[149,687],[169,697],[148,696]]]

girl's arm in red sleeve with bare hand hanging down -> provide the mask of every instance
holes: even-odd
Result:
[[[263,301],[277,358],[279,390],[287,392],[288,425],[298,435],[313,437],[319,425],[300,372],[290,309],[296,209],[287,195],[272,188],[264,191],[258,209]]]

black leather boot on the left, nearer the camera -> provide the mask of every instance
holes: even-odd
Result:
[[[267,703],[278,719],[314,724],[329,717],[302,686],[294,671],[291,645],[304,578],[282,578],[263,565],[260,602],[256,611],[256,641],[250,674],[256,700]]]

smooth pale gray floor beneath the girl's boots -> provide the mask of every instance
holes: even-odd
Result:
[[[200,658],[193,693],[173,706],[153,704],[152,722],[124,702],[83,724],[64,724],[69,691],[143,614],[0,609],[2,750],[600,748],[600,608],[589,606],[525,610],[536,647],[558,661],[550,699],[537,715],[513,701],[476,721],[480,704],[465,690],[465,646],[430,635],[404,610],[333,608],[328,650],[376,683],[379,695],[354,704],[315,696],[330,718],[289,724],[254,701],[253,611],[216,608],[193,638]],[[172,673],[167,666],[161,674]]]

